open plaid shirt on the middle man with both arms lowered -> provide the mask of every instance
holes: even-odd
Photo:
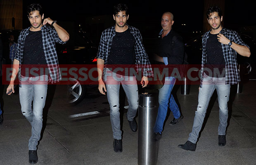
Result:
[[[140,71],[140,69],[143,69],[143,75],[146,77],[150,77],[153,75],[153,71],[152,71],[151,65],[149,63],[149,59],[148,59],[146,50],[142,43],[142,36],[140,34],[140,31],[137,28],[134,28],[132,26],[128,26],[128,28],[130,29],[130,33],[133,35],[133,37],[136,40],[136,43],[134,46],[134,48],[135,48],[135,64],[137,64],[136,70]],[[104,30],[102,32],[102,35],[100,38],[100,45],[99,45],[99,50],[97,53],[97,58],[104,60],[103,75],[106,72],[106,65],[107,65],[107,61],[109,59],[112,40],[115,35],[116,35],[115,26],[112,26],[112,27]],[[104,78],[104,76],[102,76],[102,78]]]

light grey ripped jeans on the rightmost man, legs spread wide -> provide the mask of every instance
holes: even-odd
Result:
[[[204,123],[205,113],[214,90],[217,90],[219,104],[219,120],[218,134],[225,135],[228,124],[228,100],[230,94],[230,85],[225,85],[224,78],[214,78],[204,74],[203,85],[199,89],[198,106],[194,116],[194,124],[192,132],[188,140],[192,143],[197,142],[197,138],[201,127]]]

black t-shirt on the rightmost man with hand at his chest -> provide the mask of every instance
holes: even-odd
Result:
[[[211,73],[206,69],[204,72],[211,77],[225,77],[225,59],[222,52],[221,43],[217,39],[218,34],[209,34],[206,41],[206,66]]]

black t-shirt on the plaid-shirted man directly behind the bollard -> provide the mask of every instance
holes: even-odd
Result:
[[[135,46],[136,40],[130,33],[128,28],[124,32],[116,32],[113,37],[111,50],[107,67],[133,67],[135,64]],[[118,74],[124,75],[123,72],[118,71]]]

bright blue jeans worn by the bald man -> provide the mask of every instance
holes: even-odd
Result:
[[[171,94],[175,81],[176,79],[174,77],[166,77],[164,86],[159,90],[159,96],[158,96],[159,107],[158,107],[156,123],[154,125],[154,132],[161,133],[163,131],[164,120],[166,118],[168,107],[173,112],[174,118],[180,117],[179,107],[173,98],[173,94]]]

